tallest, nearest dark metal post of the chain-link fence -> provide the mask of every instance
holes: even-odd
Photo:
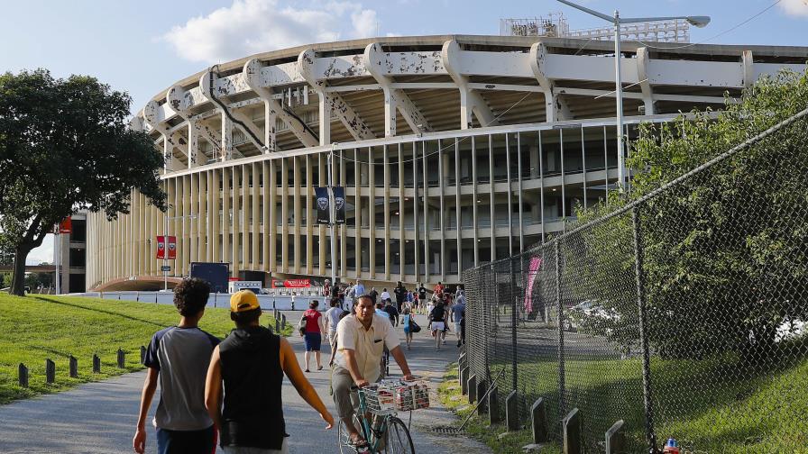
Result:
[[[639,341],[642,345],[642,397],[646,417],[646,441],[649,452],[657,452],[657,435],[654,433],[654,408],[651,399],[651,354],[648,349],[647,313],[646,313],[646,281],[643,260],[645,254],[642,244],[642,222],[639,207],[631,209],[631,221],[634,227],[635,276],[637,277],[637,305],[639,310]]]

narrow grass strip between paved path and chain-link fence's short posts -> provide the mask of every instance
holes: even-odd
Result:
[[[468,404],[468,396],[461,395],[460,382],[457,379],[457,364],[454,363],[446,370],[444,381],[438,386],[438,397],[442,404],[459,417],[456,426],[459,427],[465,418],[472,413],[473,405]],[[495,454],[520,454],[522,447],[532,443],[530,431],[521,430],[511,432],[500,438],[505,432],[501,424],[490,425],[487,417],[472,416],[464,427],[465,432],[473,438],[482,441]],[[560,454],[561,449],[556,444],[546,446],[541,450],[543,454]]]

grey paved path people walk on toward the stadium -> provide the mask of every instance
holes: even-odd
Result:
[[[300,313],[288,313],[287,316],[293,322],[298,320]],[[418,322],[426,326],[426,321],[422,319],[420,317]],[[298,359],[302,364],[302,341],[297,336],[289,340],[298,351]],[[436,351],[432,338],[424,330],[416,335],[413,350],[406,351],[410,368],[419,376],[429,377],[433,381],[433,387],[437,386],[446,365],[456,359],[457,350],[451,340],[448,343],[444,350]],[[327,355],[324,356],[324,361],[326,360]],[[399,373],[396,369],[393,368],[392,372]],[[127,374],[100,383],[78,386],[68,392],[0,406],[0,452],[132,452],[133,428],[144,377],[144,372]],[[308,378],[326,401],[328,408],[333,411],[334,403],[328,395],[326,368],[308,374]],[[289,383],[284,385],[283,399],[287,431],[291,436],[289,450],[292,454],[339,452],[336,447],[336,430],[325,431],[324,423]],[[156,406],[155,398],[152,414]],[[416,451],[465,454],[491,452],[473,440],[448,438],[428,432],[428,428],[449,424],[453,418],[439,408],[434,400],[433,408],[414,412],[412,425]],[[151,420],[150,415],[149,421]],[[154,431],[151,424],[147,424],[147,427],[147,452],[155,452]]]

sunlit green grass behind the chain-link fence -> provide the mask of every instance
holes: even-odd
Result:
[[[501,366],[491,366],[498,371]],[[558,364],[519,364],[519,390],[528,401],[544,396],[551,419],[557,414]],[[674,437],[704,452],[808,452],[808,360],[787,367],[750,371],[738,359],[651,363],[657,438]],[[500,383],[511,382],[510,364]],[[644,446],[640,359],[565,361],[567,406],[578,406],[584,431],[602,440],[611,423],[626,422],[629,443]],[[556,426],[556,431],[560,430]]]

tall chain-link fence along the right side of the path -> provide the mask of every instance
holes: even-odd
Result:
[[[466,270],[470,374],[516,390],[523,424],[544,398],[556,440],[577,408],[586,452],[618,420],[629,452],[808,449],[806,112]]]

